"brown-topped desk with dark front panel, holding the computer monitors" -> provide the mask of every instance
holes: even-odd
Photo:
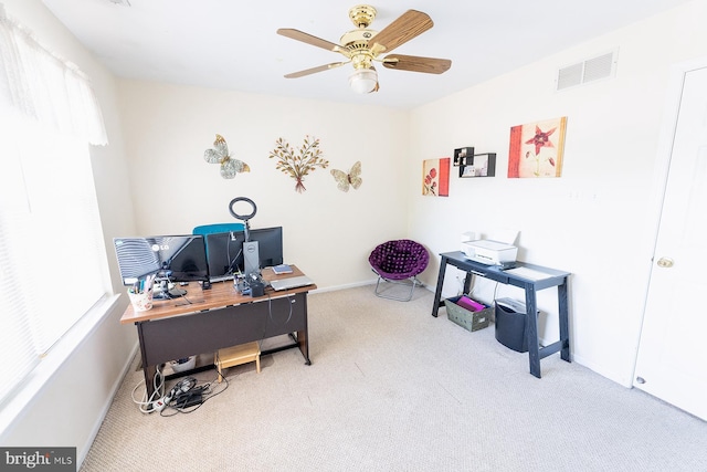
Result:
[[[263,270],[266,281],[296,275],[304,274],[294,265],[292,274],[275,275],[270,268]],[[128,306],[120,323],[137,326],[147,395],[154,391],[152,379],[161,364],[273,336],[291,335],[294,344],[284,348],[298,347],[305,364],[310,365],[307,293],[316,287],[279,292],[267,287],[263,296],[253,298],[239,294],[233,281],[214,283],[211,290],[190,283],[183,287],[186,296],[155,301],[147,312]]]

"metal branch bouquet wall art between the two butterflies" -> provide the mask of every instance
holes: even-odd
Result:
[[[305,136],[304,144],[297,151],[298,154],[295,155],[295,149],[285,139],[277,138],[275,149],[270,151],[268,158],[275,157],[277,159],[275,168],[295,179],[297,181],[295,190],[302,193],[307,190],[304,186],[305,176],[315,171],[317,167],[326,169],[329,161],[324,159],[321,155],[319,139],[308,135]]]

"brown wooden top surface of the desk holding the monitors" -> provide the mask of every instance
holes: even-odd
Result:
[[[263,279],[265,281],[272,281],[277,279],[294,277],[297,275],[304,275],[304,273],[292,265],[293,272],[291,274],[276,275],[271,268],[262,270]],[[133,305],[128,305],[125,313],[120,317],[122,324],[147,322],[150,319],[166,318],[176,315],[186,315],[189,313],[203,312],[207,310],[222,308],[224,306],[241,305],[244,303],[258,302],[273,297],[287,296],[295,293],[309,292],[315,290],[316,285],[300,286],[292,290],[283,290],[275,292],[270,286],[265,289],[263,296],[252,297],[250,295],[241,295],[233,286],[233,281],[217,282],[211,284],[210,290],[201,290],[201,285],[197,282],[191,282],[187,286],[180,286],[180,289],[187,290],[187,295],[172,298],[172,300],[155,300],[152,301],[152,308],[147,312],[136,312]],[[191,302],[191,303],[189,303]]]

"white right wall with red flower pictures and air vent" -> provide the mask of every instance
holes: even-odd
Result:
[[[662,169],[663,126],[671,65],[707,54],[707,2],[696,1],[598,38],[527,67],[420,107],[412,114],[411,165],[475,146],[497,153],[496,177],[452,177],[449,198],[420,196],[415,176],[410,237],[434,253],[458,249],[460,234],[520,231],[519,259],[572,272],[570,338],[573,359],[630,386],[635,361],[656,221],[654,172]],[[559,67],[619,48],[614,80],[553,92]],[[509,128],[568,117],[559,179],[508,179]],[[434,261],[439,268],[439,258]],[[426,282],[434,272],[426,272]],[[479,281],[478,296],[495,286]],[[446,294],[458,283],[447,276]],[[521,296],[502,286],[498,296]],[[557,339],[555,290],[541,292],[549,313],[541,335]],[[523,300],[523,298],[521,298]]]

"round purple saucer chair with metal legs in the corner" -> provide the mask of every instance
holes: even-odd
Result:
[[[371,270],[378,275],[376,283],[376,296],[381,298],[409,302],[415,286],[422,285],[418,275],[428,268],[430,253],[419,242],[409,239],[387,241],[373,249],[368,256]],[[395,296],[384,294],[381,290],[381,282],[399,285],[410,285],[410,293],[407,296]]]

